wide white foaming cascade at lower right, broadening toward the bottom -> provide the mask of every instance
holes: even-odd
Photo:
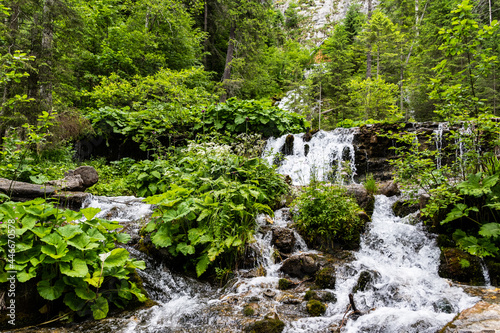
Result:
[[[345,332],[436,332],[477,301],[439,277],[435,240],[421,224],[394,216],[394,202],[376,196],[372,223],[356,260],[337,280],[339,303],[330,313],[343,312],[354,291],[358,309],[366,312],[349,321]]]

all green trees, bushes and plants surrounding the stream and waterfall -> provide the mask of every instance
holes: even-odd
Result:
[[[146,197],[157,209],[142,235],[187,271],[214,275],[237,267],[256,215],[272,215],[289,191],[260,159],[268,137],[447,121],[458,126],[448,151],[394,138],[395,179],[430,194],[422,216],[446,244],[497,263],[498,4],[368,3],[362,11],[353,2],[318,40],[300,0],[281,9],[282,1],[0,0],[0,177],[44,184],[92,165],[101,178],[90,193]],[[15,210],[7,197],[1,214],[20,218],[17,251],[34,258],[16,257],[19,282],[37,281],[44,299],[94,318],[109,302],[142,299],[127,280],[142,264],[114,248],[127,240],[106,232],[114,224],[76,224],[42,201]],[[309,188],[295,205],[299,229],[315,228],[311,239],[359,239],[358,207],[343,190]],[[118,291],[99,290],[101,277],[120,281]]]

